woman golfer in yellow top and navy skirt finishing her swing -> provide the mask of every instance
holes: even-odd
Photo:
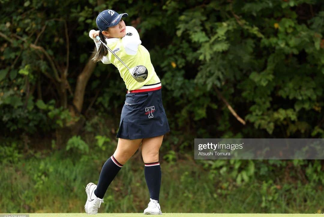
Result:
[[[118,14],[113,10],[99,13],[96,23],[98,31],[91,30],[89,37],[97,47],[93,58],[95,62],[113,64],[119,70],[124,80],[127,94],[121,111],[118,144],[116,151],[104,163],[99,175],[98,185],[87,184],[87,214],[96,214],[111,181],[121,170],[122,166],[137,151],[142,143],[142,157],[145,163],[145,180],[150,194],[150,202],[144,214],[162,214],[159,205],[161,186],[161,167],[159,163],[159,149],[163,136],[170,131],[168,119],[161,99],[161,82],[150,60],[150,54],[141,45],[141,40],[134,27],[126,26],[121,19],[128,14]],[[129,68],[145,66],[147,78],[139,82],[130,71],[107,48],[96,40],[107,44]],[[142,80],[141,80],[142,81]]]

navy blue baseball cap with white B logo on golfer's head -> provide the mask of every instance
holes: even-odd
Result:
[[[107,30],[108,27],[116,26],[122,17],[127,17],[128,14],[118,14],[114,10],[104,10],[98,14],[96,24],[98,29],[102,32]]]

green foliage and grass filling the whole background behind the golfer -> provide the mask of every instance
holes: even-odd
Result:
[[[162,82],[171,128],[161,148],[161,162],[171,171],[164,173],[161,196],[168,212],[324,210],[323,161],[192,162],[194,138],[324,137],[322,1],[0,4],[0,170],[5,171],[0,187],[6,189],[0,212],[51,211],[53,206],[55,211],[83,211],[83,199],[70,198],[84,194],[81,186],[95,182],[114,151],[125,99],[125,85],[114,66],[86,67],[94,49],[88,31],[96,29],[95,17],[107,8],[129,14],[124,21],[139,31]],[[85,69],[91,77],[78,111],[76,86]],[[192,168],[173,171],[172,165],[184,160]],[[110,189],[104,211],[137,212],[145,205],[138,196],[147,194],[142,171],[131,165],[123,170],[112,189],[121,187],[122,180],[125,186],[135,180],[140,187],[127,188],[127,193]],[[180,187],[173,183],[175,177]],[[68,192],[71,204],[61,206],[63,192],[56,192],[52,183],[67,185],[59,191]]]

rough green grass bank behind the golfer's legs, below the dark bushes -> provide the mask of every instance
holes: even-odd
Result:
[[[93,156],[72,158],[54,152],[43,159],[29,159],[12,165],[0,164],[2,171],[0,212],[83,213],[87,199],[84,186],[88,182],[98,181],[101,167],[107,156],[110,156],[107,153],[98,151],[96,158]],[[225,180],[221,176],[216,175],[214,179],[210,179],[209,172],[190,158],[179,160],[176,164],[161,161],[161,169],[160,204],[162,212],[168,212],[165,215],[176,215],[171,213],[178,212],[323,213],[324,211],[322,202],[324,194],[322,189],[316,186],[289,185],[287,188],[278,189],[273,183],[264,184],[264,180],[253,180],[248,185],[225,186],[223,185]],[[111,183],[99,213],[141,213],[148,202],[144,163],[141,158],[132,158]]]

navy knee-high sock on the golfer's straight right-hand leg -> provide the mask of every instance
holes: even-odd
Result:
[[[161,187],[160,163],[145,163],[144,174],[148,191],[150,192],[150,198],[158,201]]]

